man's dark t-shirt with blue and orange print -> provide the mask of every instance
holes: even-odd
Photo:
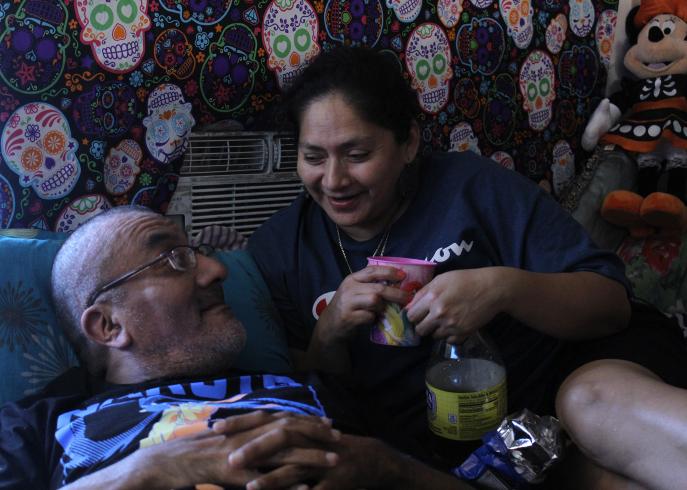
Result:
[[[113,385],[72,368],[38,395],[0,407],[0,489],[60,488],[140,448],[256,410],[328,416],[354,432],[344,400],[320,384],[227,373]]]

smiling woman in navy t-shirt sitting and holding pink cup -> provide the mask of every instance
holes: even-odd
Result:
[[[684,343],[651,312],[628,326],[614,254],[522,175],[470,152],[421,155],[416,94],[382,54],[322,53],[285,107],[306,193],[249,250],[298,366],[350,375],[370,429],[423,457],[432,343],[486,331],[509,412],[557,415],[594,463],[573,488],[687,488],[687,392],[666,383],[687,386]],[[419,346],[370,342],[385,303],[410,299],[372,255],[437,263],[405,308]]]

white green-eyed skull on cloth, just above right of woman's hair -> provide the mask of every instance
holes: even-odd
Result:
[[[448,102],[453,71],[448,38],[438,24],[420,24],[410,34],[406,68],[420,107],[430,114],[439,112]]]

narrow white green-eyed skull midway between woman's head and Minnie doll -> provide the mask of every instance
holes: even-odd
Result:
[[[519,81],[522,107],[535,131],[543,131],[551,122],[556,99],[555,84],[553,61],[544,51],[535,49],[522,64]]]

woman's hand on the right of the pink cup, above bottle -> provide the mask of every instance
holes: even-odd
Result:
[[[460,343],[503,311],[502,268],[485,267],[439,274],[406,307],[422,336]]]

